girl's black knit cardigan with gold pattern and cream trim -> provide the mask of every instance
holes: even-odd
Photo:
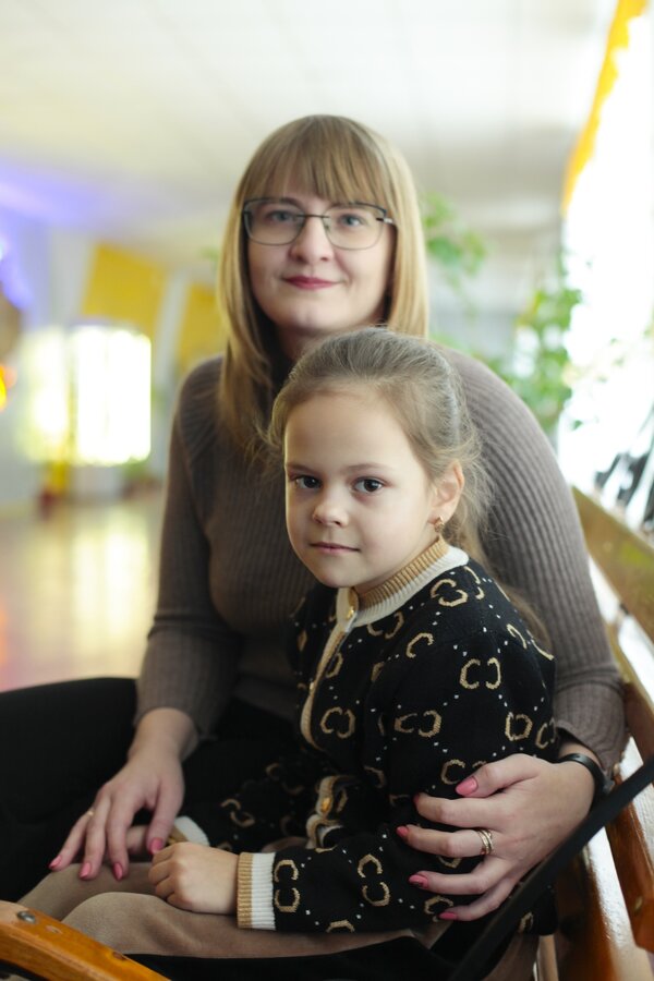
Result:
[[[348,620],[349,591],[316,586],[298,613],[289,653],[306,736],[299,735],[296,753],[232,795],[241,802],[237,814],[253,814],[254,825],[239,827],[219,807],[197,821],[210,844],[228,839],[237,852],[253,853],[252,874],[239,888],[251,892],[254,924],[304,933],[344,922],[358,933],[435,929],[438,911],[461,900],[445,888],[425,909],[433,897],[409,883],[415,852],[396,828],[431,826],[414,795],[455,798],[456,785],[481,762],[517,749],[556,758],[554,665],[482,567],[461,555],[446,556],[416,589],[401,585],[395,605],[388,596],[362,602]],[[468,598],[457,604],[461,594]],[[403,627],[396,633],[398,613]],[[524,738],[509,739],[508,723],[509,735]],[[279,843],[283,832],[295,840]],[[254,853],[262,848],[268,853]],[[469,873],[480,857],[421,861],[426,870]],[[540,912],[536,929],[543,927],[550,920]]]

